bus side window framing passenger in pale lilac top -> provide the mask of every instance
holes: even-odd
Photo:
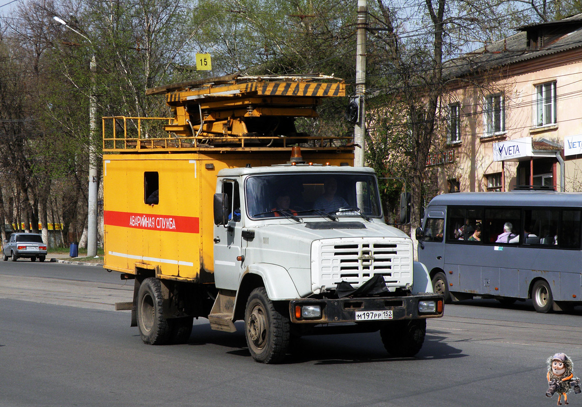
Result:
[[[481,225],[481,240],[489,243],[519,243],[519,209],[487,208]]]

